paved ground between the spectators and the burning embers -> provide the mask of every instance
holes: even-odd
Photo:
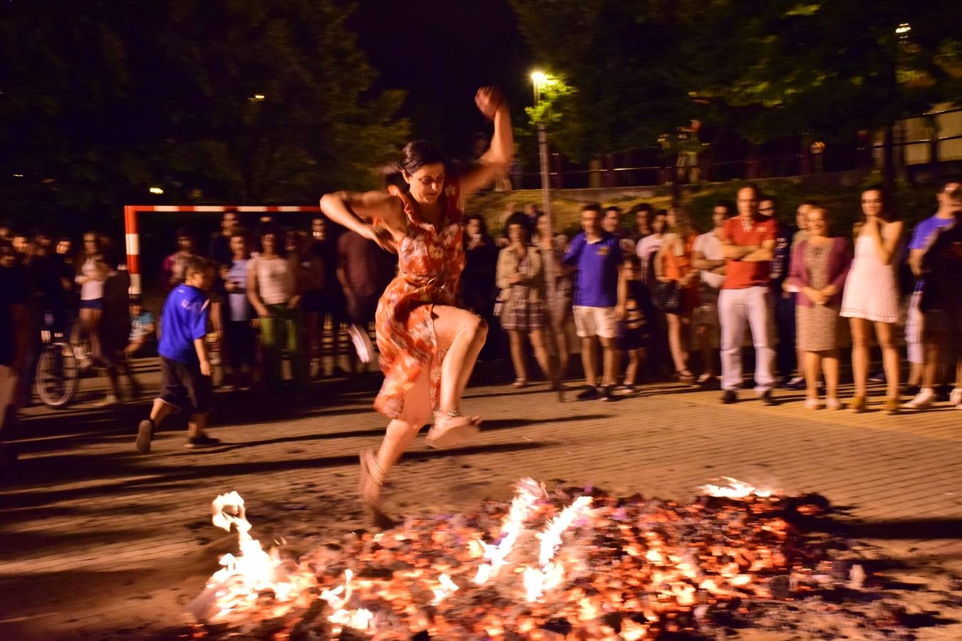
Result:
[[[82,382],[75,406],[34,407],[23,422],[22,460],[0,486],[0,638],[176,631],[217,556],[234,550],[235,536],[210,523],[221,492],[238,490],[255,536],[283,535],[291,555],[361,527],[356,456],[383,430],[369,408],[376,382],[320,382],[309,407],[283,414],[221,394],[212,433],[222,446],[185,451],[183,422],[172,421],[149,456],[133,447],[146,400],[96,409],[96,384]],[[561,405],[544,385],[472,386],[469,397],[466,409],[486,419],[476,444],[442,453],[419,440],[388,490],[395,512],[507,499],[523,476],[665,498],[722,476],[820,492],[848,508],[866,554],[896,561],[913,607],[941,612],[943,625],[920,638],[962,638],[962,412],[806,411],[788,392],[780,407],[750,392],[722,407],[718,392],[670,383],[612,404]]]

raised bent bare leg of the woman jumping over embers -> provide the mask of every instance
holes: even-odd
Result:
[[[441,367],[438,409],[443,412],[461,411],[461,397],[468,387],[474,362],[488,337],[488,323],[467,309],[446,305],[434,306],[433,318],[438,348],[447,352]]]

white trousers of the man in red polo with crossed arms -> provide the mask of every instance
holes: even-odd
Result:
[[[719,294],[719,321],[722,324],[722,389],[742,384],[742,342],[745,322],[751,328],[755,346],[755,391],[762,393],[774,385],[774,350],[769,336],[769,288],[722,289]]]

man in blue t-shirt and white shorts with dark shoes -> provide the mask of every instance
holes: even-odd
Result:
[[[581,337],[581,363],[585,368],[588,387],[578,394],[579,401],[614,399],[612,390],[619,371],[619,352],[616,349],[618,318],[616,308],[623,309],[619,300],[621,248],[618,238],[601,229],[601,207],[587,205],[581,211],[581,234],[574,236],[562,263],[573,268],[574,325]],[[604,376],[597,386],[598,342],[604,359]]]

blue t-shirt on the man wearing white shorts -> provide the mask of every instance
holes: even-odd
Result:
[[[613,308],[618,304],[618,267],[621,264],[618,238],[604,232],[600,239],[588,242],[582,232],[571,240],[562,262],[578,269],[574,279],[574,305]]]

